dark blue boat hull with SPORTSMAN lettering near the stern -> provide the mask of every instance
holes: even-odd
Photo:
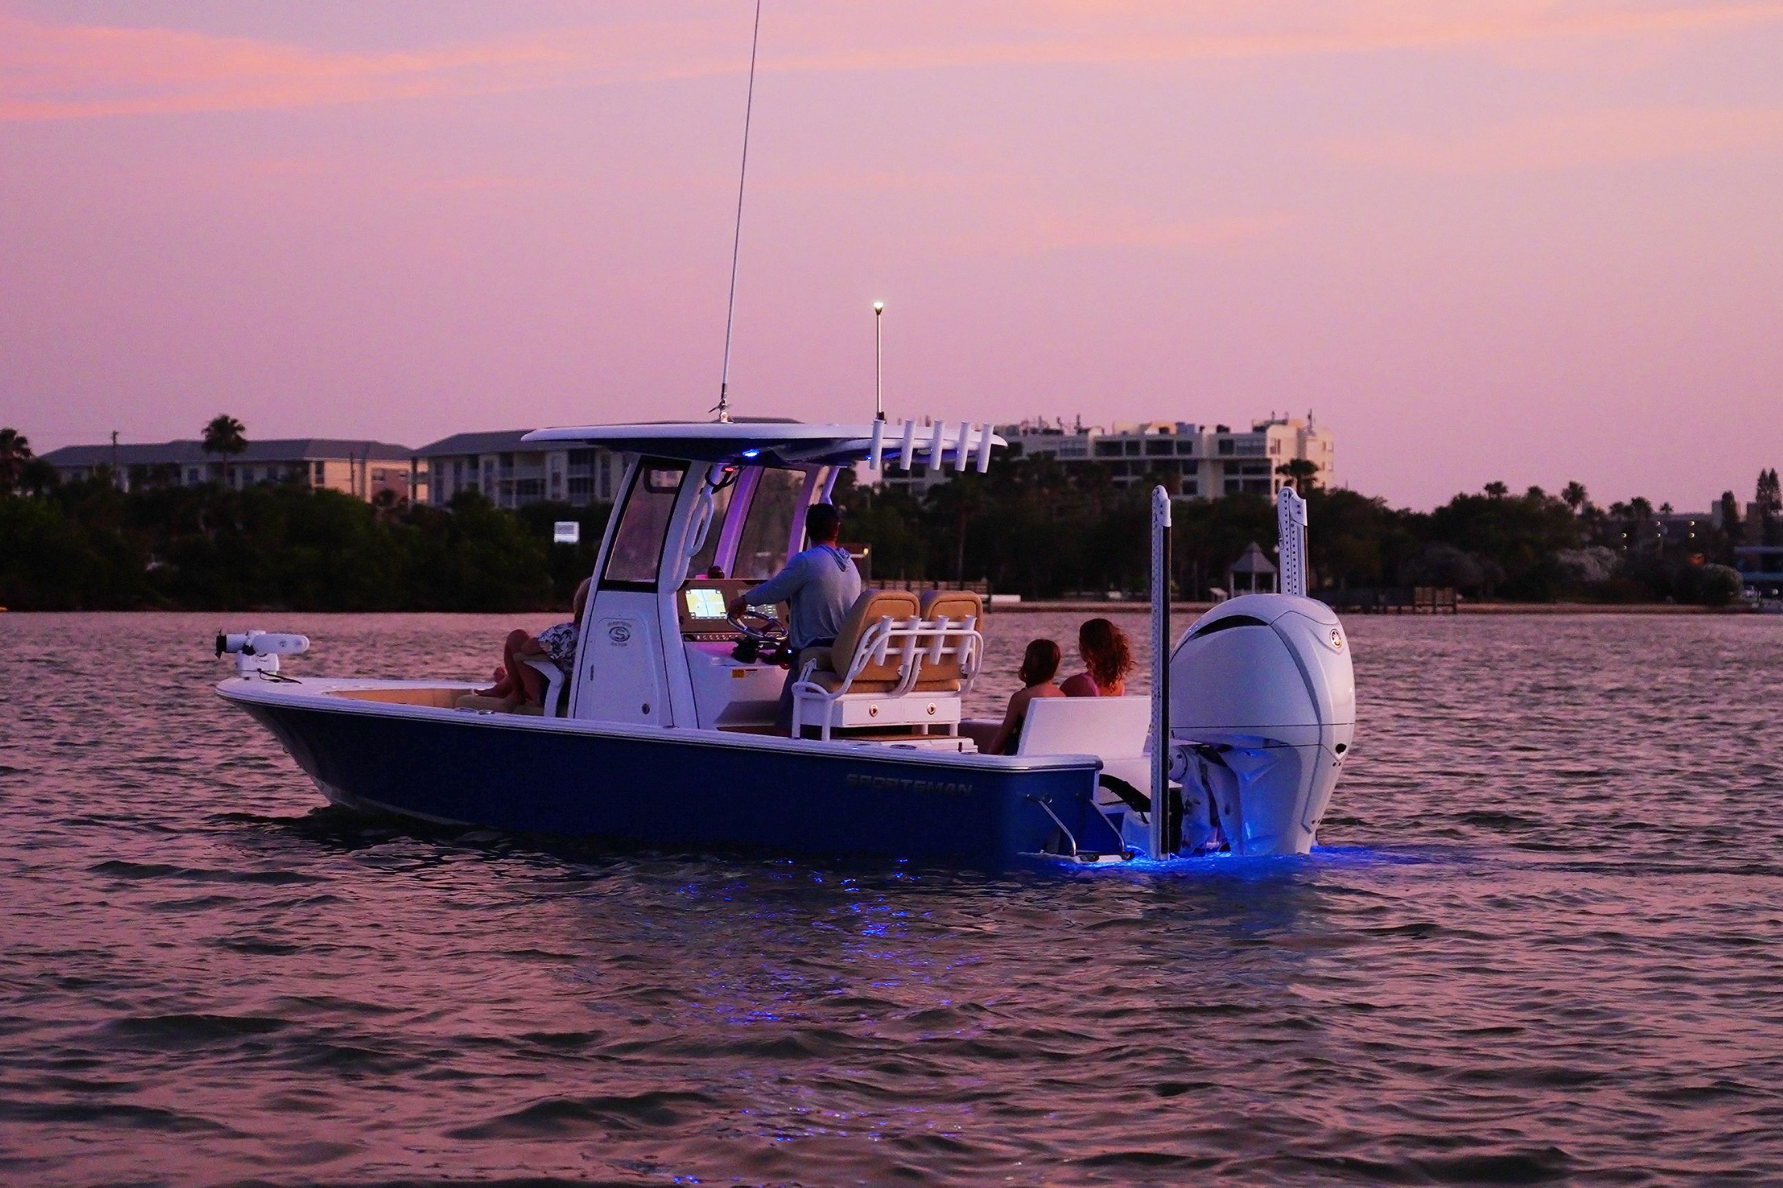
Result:
[[[1082,846],[1114,848],[1082,757],[1023,764],[219,691],[332,800],[430,821],[995,869],[1056,848],[1057,816]]]

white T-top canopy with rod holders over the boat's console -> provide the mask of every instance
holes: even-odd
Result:
[[[1007,442],[990,426],[952,420],[934,426],[881,422],[879,442],[886,458],[904,465],[929,461],[940,445],[941,461],[965,468],[974,452],[988,454],[990,445]],[[938,438],[938,440],[936,440]],[[631,426],[563,426],[533,429],[524,442],[572,442],[604,445],[628,454],[685,458],[688,461],[733,461],[740,465],[843,465],[861,461],[874,451],[874,424],[818,426],[797,420],[670,420]],[[909,458],[902,458],[909,442]]]

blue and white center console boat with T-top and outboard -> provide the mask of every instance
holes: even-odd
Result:
[[[1343,629],[1303,591],[1234,598],[1175,648],[1161,629],[1152,698],[1034,702],[1000,755],[979,750],[991,723],[963,714],[984,655],[977,595],[865,590],[836,643],[801,655],[781,655],[779,607],[727,616],[797,550],[842,468],[982,470],[1004,445],[988,424],[726,420],[526,440],[631,456],[574,668],[538,664],[542,707],[455,680],[294,679],[278,654],[301,638],[219,638],[237,675],[218,693],[328,800],[528,834],[993,869],[1311,850],[1355,696]],[[792,737],[774,727],[788,666]]]

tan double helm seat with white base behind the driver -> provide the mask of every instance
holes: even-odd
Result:
[[[977,675],[984,638],[977,595],[966,602],[934,604],[924,613],[904,590],[863,590],[854,600],[836,643],[806,648],[797,661],[792,689],[793,737],[815,725],[822,737],[838,727],[947,727],[959,730],[961,693]],[[957,614],[957,618],[956,618]]]

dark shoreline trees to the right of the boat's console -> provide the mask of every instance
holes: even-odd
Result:
[[[1599,506],[1580,483],[1560,493],[1503,483],[1460,493],[1434,511],[1393,508],[1352,490],[1311,483],[1311,463],[1278,472],[1307,499],[1316,590],[1453,586],[1467,598],[1514,602],[1703,602],[1740,593],[1731,568],[1740,543],[1783,541],[1776,472],[1760,476],[1753,524],[1733,493],[1719,525],[1669,527],[1647,499]],[[990,581],[1023,597],[1141,591],[1150,572],[1150,490],[1175,476],[1116,488],[1097,467],[1039,456],[990,474],[959,474],[927,495],[845,484],[845,534],[874,547],[886,575]],[[1179,597],[1227,588],[1227,568],[1255,541],[1273,554],[1275,504],[1225,495],[1175,504],[1171,579]]]

